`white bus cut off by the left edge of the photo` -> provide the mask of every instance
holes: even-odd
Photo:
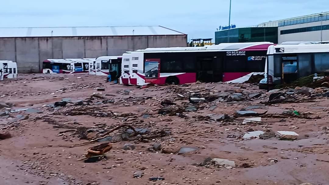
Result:
[[[0,60],[0,80],[17,78],[17,63],[11,60]]]

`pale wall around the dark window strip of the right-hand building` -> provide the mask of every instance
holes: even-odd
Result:
[[[281,35],[281,30],[290,30],[296,28],[305,28],[311,26],[320,26],[321,21],[304,23],[304,24],[295,24],[289,26],[278,27],[278,43],[286,41],[321,41],[321,31],[307,31],[300,33],[290,33]],[[329,25],[329,20],[322,21],[322,25]],[[322,30],[322,41],[329,40],[329,30]]]

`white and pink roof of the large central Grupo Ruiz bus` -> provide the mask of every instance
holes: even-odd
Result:
[[[193,51],[221,51],[221,50],[263,50],[266,51],[268,46],[273,45],[271,42],[247,42],[247,43],[221,43],[211,46],[202,47],[171,47],[171,48],[146,48],[145,50],[136,50],[142,52],[193,52]]]

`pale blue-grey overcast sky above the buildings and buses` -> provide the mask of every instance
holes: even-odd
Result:
[[[153,26],[214,38],[230,0],[0,0],[0,27]],[[329,0],[232,0],[231,24],[256,25],[329,11]]]

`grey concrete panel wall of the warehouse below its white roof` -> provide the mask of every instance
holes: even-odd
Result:
[[[18,72],[39,72],[49,58],[96,58],[155,47],[187,46],[187,35],[0,38],[0,60]]]

